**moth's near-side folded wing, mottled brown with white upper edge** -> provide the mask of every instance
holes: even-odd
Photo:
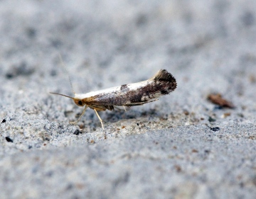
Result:
[[[83,101],[90,108],[97,108],[96,110],[113,110],[113,106],[139,106],[171,93],[176,86],[174,76],[165,69],[161,69],[146,81],[124,84],[119,90],[98,93],[90,98],[84,98]]]

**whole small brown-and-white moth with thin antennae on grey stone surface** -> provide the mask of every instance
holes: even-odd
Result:
[[[71,88],[73,86],[70,81]],[[140,106],[144,103],[156,101],[160,96],[167,95],[176,89],[177,83],[174,76],[167,72],[166,69],[161,69],[150,79],[140,81],[134,84],[123,84],[122,86],[115,86],[110,89],[103,89],[100,91],[92,91],[90,93],[73,93],[74,97],[65,96],[60,93],[52,93],[55,95],[72,98],[77,106],[85,106],[82,114],[77,121],[78,123],[82,115],[85,113],[87,107],[95,110],[97,117],[100,120],[102,129],[104,126],[102,119],[97,111],[114,110],[115,106],[123,106],[124,110],[131,106]]]

